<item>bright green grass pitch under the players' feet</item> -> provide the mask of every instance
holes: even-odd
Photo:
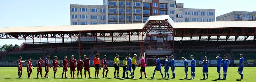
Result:
[[[0,81],[1,82],[60,82],[60,81],[66,81],[66,82],[82,82],[82,81],[87,81],[87,82],[166,82],[166,81],[175,81],[175,82],[200,82],[200,81],[226,81],[226,82],[234,82],[237,81],[238,79],[241,78],[241,76],[237,73],[238,67],[229,67],[228,68],[228,74],[227,74],[227,79],[226,80],[216,80],[218,78],[218,73],[216,72],[216,67],[209,67],[208,74],[209,78],[205,80],[200,80],[203,78],[203,73],[202,73],[202,67],[196,67],[196,76],[195,79],[183,79],[185,78],[185,73],[184,73],[184,67],[175,67],[175,75],[176,79],[160,79],[161,74],[159,72],[156,72],[155,78],[151,79],[150,77],[153,75],[155,67],[146,67],[146,72],[147,72],[147,79],[138,79],[140,77],[140,70],[138,67],[136,67],[135,71],[135,79],[122,79],[122,78],[114,78],[114,67],[109,67],[109,72],[108,72],[108,78],[102,78],[102,70],[99,72],[99,79],[94,79],[94,67],[91,67],[91,77],[88,78],[88,72],[86,72],[87,79],[85,78],[75,78],[75,79],[70,79],[70,78],[61,78],[62,74],[62,68],[58,68],[58,72],[56,72],[56,77],[53,78],[53,71],[50,69],[50,72],[48,73],[48,76],[50,78],[36,78],[36,67],[35,69],[32,69],[32,74],[31,78],[27,78],[27,68],[23,67],[23,74],[22,78],[18,78],[18,71],[17,67],[0,67]],[[188,78],[191,77],[190,74],[190,67],[188,68]],[[162,67],[162,71],[164,70],[164,67]],[[44,71],[44,67],[43,67]],[[169,69],[169,71],[171,71]],[[222,71],[222,70],[221,70]],[[106,71],[105,71],[106,72]],[[256,72],[256,67],[244,67],[244,79],[241,81],[244,82],[254,82],[255,80],[255,72]],[[43,73],[43,77],[45,72]],[[77,72],[75,72],[75,77],[77,77]],[[122,77],[123,70],[119,72],[119,76]],[[130,72],[129,72],[130,73]],[[172,77],[172,73],[170,73],[170,78]],[[164,74],[164,72],[163,72]],[[126,75],[126,73],[125,73]],[[166,75],[167,76],[167,75]],[[40,77],[40,74],[39,74]],[[67,72],[67,77],[70,77],[70,72]],[[83,72],[83,77],[84,77],[84,72]],[[144,74],[142,75],[144,78]],[[131,76],[129,76],[131,78]],[[223,73],[221,72],[221,78],[223,78]]]

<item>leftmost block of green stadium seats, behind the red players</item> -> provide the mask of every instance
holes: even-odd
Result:
[[[38,60],[39,57],[43,58],[44,54],[45,53],[10,53],[2,60],[18,60],[20,56],[22,57],[22,60],[28,60],[28,58],[31,58],[31,60]]]

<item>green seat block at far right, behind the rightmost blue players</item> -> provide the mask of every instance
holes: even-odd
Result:
[[[256,58],[256,51],[232,51],[235,60],[239,60],[240,54],[244,55],[244,59],[255,59]]]

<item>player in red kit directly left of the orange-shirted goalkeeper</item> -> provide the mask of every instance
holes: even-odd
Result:
[[[90,60],[89,58],[87,58],[86,55],[84,55],[83,63],[84,63],[84,77],[86,78],[86,71],[88,71],[89,78],[91,78],[90,77]]]

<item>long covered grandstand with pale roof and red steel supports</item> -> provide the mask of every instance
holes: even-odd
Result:
[[[37,60],[50,56],[87,55],[91,62],[96,53],[112,60],[126,54],[143,54],[147,65],[155,63],[155,55],[161,61],[174,55],[175,60],[194,55],[196,60],[204,56],[210,66],[216,64],[216,54],[227,55],[237,66],[239,54],[248,59],[246,66],[256,66],[256,21],[185,22],[174,23],[169,16],[150,16],[144,24],[98,24],[71,26],[6,27],[0,29],[0,39],[25,40],[19,49],[1,52],[1,66],[12,66],[19,56]],[[58,40],[58,41],[56,41]],[[27,42],[28,41],[28,42]],[[83,58],[83,57],[82,57]],[[9,60],[9,61],[6,61]],[[10,61],[10,60],[13,60]],[[6,65],[2,62],[10,62]],[[196,61],[197,66],[199,61]],[[13,66],[16,66],[14,64]]]

